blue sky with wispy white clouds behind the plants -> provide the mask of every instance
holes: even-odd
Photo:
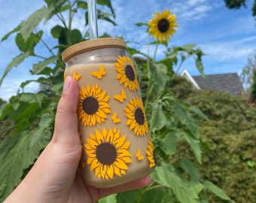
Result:
[[[44,5],[43,0],[0,0],[0,2],[0,38]],[[142,52],[146,53],[148,34],[145,27],[138,27],[136,23],[148,23],[151,14],[166,8],[176,14],[179,24],[169,46],[197,44],[197,47],[206,53],[203,57],[205,74],[233,72],[240,74],[242,68],[247,65],[248,57],[254,56],[256,21],[251,16],[252,0],[248,0],[248,8],[237,11],[227,9],[223,0],[112,0],[111,2],[118,26],[99,21],[99,34],[107,32],[112,36],[122,35],[126,41],[137,41],[139,44],[131,43],[129,46],[136,47]],[[58,21],[53,19],[46,25],[40,25],[40,28],[44,29],[46,41],[49,41],[50,28],[56,23]],[[73,26],[82,32],[87,29],[84,27],[84,14],[78,14]],[[11,59],[20,53],[15,46],[14,38],[15,35],[11,35],[8,41],[0,44],[0,77]],[[163,47],[160,46],[159,58],[163,56],[162,50]],[[153,50],[151,53],[153,54]],[[35,59],[26,59],[22,65],[14,68],[5,77],[0,87],[0,98],[8,100],[20,89],[20,83],[34,78],[29,73],[34,62]],[[181,70],[184,68],[192,75],[199,74],[193,59],[187,60]],[[24,91],[33,92],[37,88],[36,84],[31,84],[26,86]]]

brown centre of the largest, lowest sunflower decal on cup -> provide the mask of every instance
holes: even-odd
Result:
[[[96,157],[103,165],[111,165],[117,159],[117,149],[113,144],[103,142],[96,148]]]

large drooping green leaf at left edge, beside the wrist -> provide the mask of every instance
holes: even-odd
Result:
[[[50,141],[51,132],[46,129],[53,118],[53,114],[44,114],[38,129],[14,135],[0,144],[0,196],[3,199],[20,183],[24,171]]]

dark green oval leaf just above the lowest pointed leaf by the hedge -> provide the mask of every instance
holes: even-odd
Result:
[[[195,183],[200,183],[200,172],[197,171],[197,168],[194,167],[193,163],[189,159],[180,160],[181,167],[184,171],[190,175],[190,180]]]

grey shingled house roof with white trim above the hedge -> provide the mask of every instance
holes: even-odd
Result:
[[[202,76],[191,76],[184,70],[181,76],[190,80],[197,89],[212,89],[218,92],[229,92],[231,95],[240,95],[243,92],[242,83],[236,73],[209,74]]]

